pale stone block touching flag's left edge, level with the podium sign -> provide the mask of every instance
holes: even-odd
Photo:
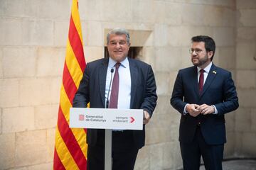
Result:
[[[54,128],[57,124],[58,104],[35,106],[35,128]]]

